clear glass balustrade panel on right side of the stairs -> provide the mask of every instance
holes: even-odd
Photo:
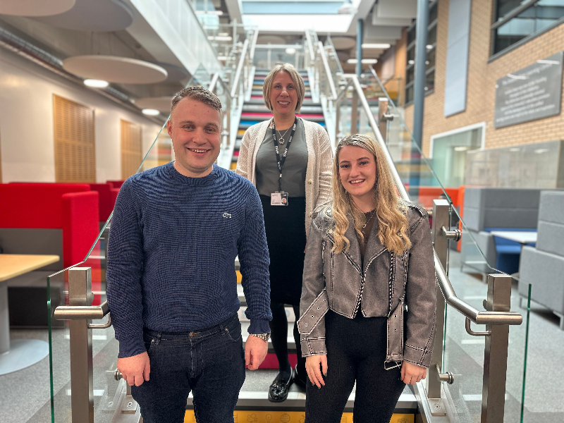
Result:
[[[497,269],[499,257],[496,257],[496,253],[499,255],[503,250],[499,249],[500,240],[488,231],[474,231],[476,223],[473,221],[472,208],[469,209],[470,214],[467,216],[469,221],[463,220],[465,186],[459,185],[451,188],[437,177],[438,172],[434,168],[434,163],[427,159],[424,151],[415,143],[410,128],[405,124],[405,110],[396,106],[381,82],[377,78],[374,79],[379,83],[384,97],[388,100],[386,105],[380,102],[381,107],[386,107],[386,110],[380,111],[380,121],[386,120],[384,115],[391,117],[385,123],[384,140],[401,179],[405,181],[412,201],[415,200],[427,208],[425,204],[429,204],[431,192],[438,190],[441,196],[446,197],[451,204],[450,229],[460,228],[462,230],[462,240],[458,243],[449,241],[448,277],[450,283],[459,298],[476,309],[483,310],[483,302],[487,297],[487,285],[484,283],[486,274],[503,274],[503,271]],[[379,122],[379,127],[384,128],[384,123]],[[508,215],[508,219],[511,219],[511,216]],[[500,244],[506,245],[503,240]],[[513,250],[516,250],[514,252],[516,257],[513,259],[518,261],[522,245],[513,245]],[[517,422],[522,417],[529,319],[527,308],[521,307],[521,304],[526,305],[527,300],[530,300],[527,290],[529,284],[532,283],[530,280],[523,280],[518,273],[512,272],[511,276],[513,276],[513,287],[510,309],[523,315],[523,323],[518,326],[509,326],[505,422]],[[472,330],[485,331],[485,326],[472,324]],[[458,404],[456,406],[458,412],[470,418],[468,421],[479,421],[482,401],[484,337],[468,335],[465,331],[465,317],[451,307],[446,309],[445,333],[443,372],[455,374],[455,384],[449,387],[450,394],[453,399],[456,397],[455,404]],[[459,381],[457,381],[457,376]],[[464,419],[461,417],[462,421]]]

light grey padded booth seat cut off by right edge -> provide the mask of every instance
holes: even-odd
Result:
[[[564,191],[541,192],[536,247],[523,247],[519,294],[551,309],[564,330]]]

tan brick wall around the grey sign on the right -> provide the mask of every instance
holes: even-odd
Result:
[[[426,155],[429,154],[431,135],[480,122],[486,122],[486,148],[562,140],[564,137],[564,96],[560,115],[505,128],[494,128],[496,80],[564,49],[564,25],[559,25],[488,63],[491,45],[489,28],[494,16],[494,1],[472,1],[466,110],[446,118],[443,106],[448,0],[439,0],[435,90],[425,98],[423,152]],[[412,128],[412,105],[405,109],[405,121]]]

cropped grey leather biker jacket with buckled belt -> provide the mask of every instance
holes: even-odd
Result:
[[[410,250],[394,255],[381,244],[374,222],[360,257],[352,218],[348,252],[334,254],[326,216],[316,216],[307,238],[298,330],[302,355],[325,355],[325,314],[353,319],[388,317],[386,368],[402,360],[429,367],[435,336],[436,276],[427,212],[408,204]]]

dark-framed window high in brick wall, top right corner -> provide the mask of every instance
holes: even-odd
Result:
[[[564,18],[564,0],[498,0],[494,32],[494,51],[498,53],[521,39]]]

